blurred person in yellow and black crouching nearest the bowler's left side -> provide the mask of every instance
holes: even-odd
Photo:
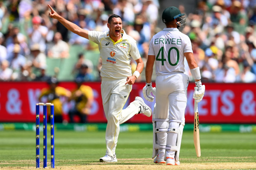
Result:
[[[90,86],[83,84],[83,79],[76,78],[76,88],[73,89],[69,100],[73,100],[75,105],[69,110],[70,123],[74,123],[74,116],[80,117],[80,123],[87,122],[87,115],[90,114],[90,108],[93,102],[93,91]]]

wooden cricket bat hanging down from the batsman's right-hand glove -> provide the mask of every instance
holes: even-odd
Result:
[[[200,140],[199,140],[199,117],[198,106],[196,100],[194,101],[194,147],[196,149],[197,157],[201,156]]]

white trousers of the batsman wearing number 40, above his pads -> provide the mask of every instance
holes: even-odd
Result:
[[[155,119],[185,124],[188,77],[183,73],[156,76]]]

